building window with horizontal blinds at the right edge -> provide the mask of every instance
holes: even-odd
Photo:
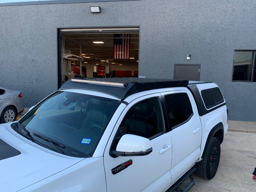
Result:
[[[255,51],[235,50],[232,81],[256,82]]]

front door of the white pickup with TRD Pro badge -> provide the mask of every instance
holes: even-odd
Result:
[[[160,93],[131,102],[120,115],[104,152],[108,192],[159,192],[171,185],[172,140],[165,132]],[[124,134],[148,138],[153,151],[145,156],[112,157]],[[128,163],[126,169],[117,169]]]

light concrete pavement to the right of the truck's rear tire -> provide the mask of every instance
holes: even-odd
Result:
[[[256,134],[228,131],[215,177],[204,180],[194,174],[195,185],[189,192],[256,192],[250,179],[255,167]]]

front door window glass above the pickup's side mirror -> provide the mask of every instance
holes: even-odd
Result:
[[[126,113],[114,137],[111,150],[125,134],[152,138],[163,132],[160,106],[157,98],[147,99],[132,106]]]

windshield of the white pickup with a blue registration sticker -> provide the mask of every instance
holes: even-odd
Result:
[[[53,151],[87,157],[96,148],[118,103],[104,97],[58,91],[29,111],[18,122],[22,126],[17,127],[25,128],[32,141]]]

